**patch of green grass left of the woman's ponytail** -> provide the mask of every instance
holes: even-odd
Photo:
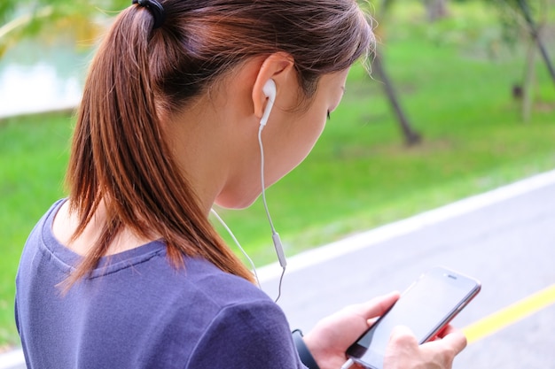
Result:
[[[72,119],[43,114],[0,122],[0,346],[16,342],[15,273],[35,222],[63,194]]]

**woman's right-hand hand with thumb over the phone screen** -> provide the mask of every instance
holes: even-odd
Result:
[[[434,341],[419,346],[409,328],[395,327],[387,345],[384,369],[450,369],[455,356],[465,347],[465,334],[451,326]]]

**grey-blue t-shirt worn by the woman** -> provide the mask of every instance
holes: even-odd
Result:
[[[204,259],[172,267],[163,242],[103,258],[63,296],[81,257],[51,232],[61,204],[29,235],[16,279],[27,368],[305,367],[269,296]]]

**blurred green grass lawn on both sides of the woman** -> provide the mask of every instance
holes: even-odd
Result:
[[[380,46],[422,144],[403,145],[379,81],[357,66],[315,150],[268,190],[287,255],[555,168],[555,84],[544,65],[538,61],[535,110],[525,124],[511,94],[524,71],[522,50],[496,43],[499,30],[477,3],[452,12],[427,25],[418,5],[397,8]],[[20,250],[64,194],[72,124],[63,113],[0,122],[0,345],[17,342]],[[260,201],[220,213],[257,265],[276,259]]]

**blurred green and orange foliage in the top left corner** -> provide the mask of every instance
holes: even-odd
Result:
[[[25,38],[51,41],[59,35],[92,39],[106,13],[129,6],[128,0],[2,0],[0,58]]]

